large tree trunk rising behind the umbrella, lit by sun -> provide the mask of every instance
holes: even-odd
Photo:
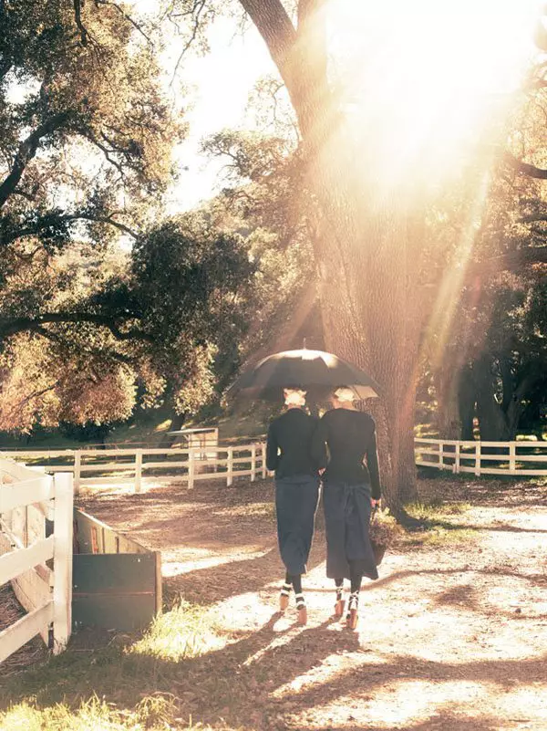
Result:
[[[366,179],[363,150],[344,127],[327,81],[320,0],[300,0],[298,27],[279,0],[241,0],[284,78],[303,137],[307,181],[317,206],[315,259],[325,345],[369,371],[387,501],[398,513],[415,497],[414,406],[419,257],[422,235],[402,190]],[[374,145],[374,141],[370,142]],[[408,191],[407,191],[408,193]],[[416,247],[419,251],[419,246]]]

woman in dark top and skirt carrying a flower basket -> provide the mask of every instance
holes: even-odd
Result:
[[[375,423],[369,414],[356,411],[354,399],[351,389],[342,387],[335,391],[334,408],[323,415],[313,444],[315,460],[320,467],[326,467],[323,473],[326,575],[335,580],[338,617],[344,613],[344,579],[351,582],[346,614],[346,624],[351,629],[357,624],[363,576],[378,578],[368,525],[372,507],[380,500]]]

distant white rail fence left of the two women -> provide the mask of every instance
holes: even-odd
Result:
[[[59,449],[0,452],[0,456],[40,465],[47,472],[71,472],[74,491],[80,486],[134,485],[140,492],[143,477],[170,482],[183,480],[193,487],[196,480],[223,480],[231,486],[234,477],[265,478],[266,445],[190,447],[186,449]]]

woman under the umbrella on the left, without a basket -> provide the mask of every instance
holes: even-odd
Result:
[[[279,597],[284,611],[294,589],[298,622],[306,624],[302,574],[312,548],[319,498],[317,466],[311,455],[317,420],[304,412],[305,392],[284,389],[286,411],[270,424],[266,465],[275,470],[275,509],[279,552],[286,569]]]

